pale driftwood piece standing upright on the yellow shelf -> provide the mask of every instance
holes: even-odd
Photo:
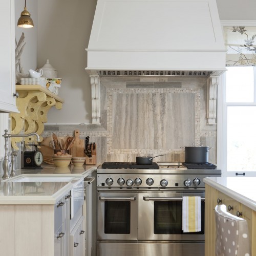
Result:
[[[16,42],[16,49],[15,49],[15,73],[16,73],[16,84],[20,84],[20,78],[28,77],[28,74],[23,73],[23,68],[20,63],[20,58],[22,56],[24,47],[26,45],[26,42],[24,42],[25,36],[24,33],[19,38],[18,44]],[[19,70],[18,70],[19,68]]]

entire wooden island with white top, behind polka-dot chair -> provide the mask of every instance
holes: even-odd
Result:
[[[256,177],[205,178],[205,256],[215,256],[215,212],[217,204],[248,223],[251,255],[256,255]]]

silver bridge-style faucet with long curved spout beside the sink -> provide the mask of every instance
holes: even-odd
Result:
[[[5,157],[4,157],[4,161],[3,161],[3,170],[4,170],[4,176],[3,178],[10,178],[10,168],[12,166],[11,163],[11,159],[10,159],[10,152],[8,152],[8,138],[11,137],[29,137],[35,135],[36,136],[36,140],[39,142],[40,141],[40,137],[37,133],[29,133],[29,134],[8,134],[8,130],[5,130],[5,134],[3,135],[3,137],[5,138]]]

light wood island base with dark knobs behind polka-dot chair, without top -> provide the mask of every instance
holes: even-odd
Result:
[[[246,205],[225,195],[221,191],[205,184],[205,256],[215,256],[215,212],[214,208],[217,204],[225,204],[227,210],[235,215],[247,220],[250,242],[251,256],[256,256],[256,212]]]

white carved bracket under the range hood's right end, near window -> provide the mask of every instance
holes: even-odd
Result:
[[[217,124],[217,88],[219,76],[210,76],[207,78],[207,119],[208,124]]]

